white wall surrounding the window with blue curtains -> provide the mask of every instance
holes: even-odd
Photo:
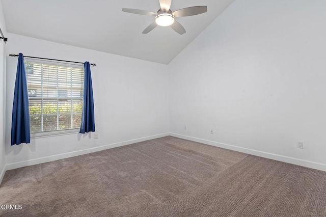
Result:
[[[60,35],[58,35],[60,37]],[[7,58],[7,164],[119,143],[169,132],[167,65],[8,34],[6,56],[71,60],[92,67],[95,104],[94,133],[36,138],[30,145],[10,146],[10,129],[17,58]],[[24,164],[23,164],[24,165]]]

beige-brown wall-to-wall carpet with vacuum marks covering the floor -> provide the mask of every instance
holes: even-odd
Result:
[[[1,204],[22,205],[1,216],[326,216],[326,172],[165,137],[7,171]]]

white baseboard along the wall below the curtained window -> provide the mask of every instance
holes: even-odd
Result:
[[[75,156],[79,156],[79,155],[83,155],[83,154],[89,154],[92,152],[102,151],[102,150],[115,148],[115,147],[119,147],[119,146],[130,145],[133,143],[139,143],[139,142],[153,140],[153,139],[157,139],[157,138],[161,138],[161,137],[167,137],[168,135],[169,135],[169,133],[162,133],[162,134],[157,134],[157,135],[151,135],[149,137],[142,137],[139,139],[128,140],[128,141],[124,141],[124,142],[119,142],[119,143],[114,143],[114,144],[109,144],[109,145],[104,145],[104,146],[99,146],[99,147],[94,147],[94,148],[89,148],[89,149],[84,149],[84,150],[79,150],[79,151],[72,151],[72,152],[67,152],[67,153],[63,153],[63,154],[56,154],[56,155],[40,157],[40,158],[36,158],[36,159],[14,162],[11,164],[7,164],[5,167],[5,170],[13,170],[13,169],[21,168],[21,167],[42,164],[44,162],[50,162],[53,160],[60,160],[60,159],[68,158],[68,157],[75,157]],[[5,174],[5,172],[4,172],[4,174]]]

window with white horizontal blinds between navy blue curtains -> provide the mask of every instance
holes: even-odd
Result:
[[[84,68],[25,62],[31,132],[80,127]]]

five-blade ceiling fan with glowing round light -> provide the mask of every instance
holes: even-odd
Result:
[[[179,9],[172,12],[170,10],[171,0],[159,0],[160,9],[157,13],[144,11],[139,9],[123,8],[122,11],[132,13],[132,14],[141,14],[141,15],[150,15],[155,16],[154,22],[152,22],[147,28],[143,31],[143,34],[147,34],[157,25],[160,26],[171,26],[171,28],[179,33],[180,35],[185,33],[183,26],[175,20],[176,17],[186,17],[193,16],[197,14],[202,14],[207,12],[207,6],[194,6],[189,8]]]

